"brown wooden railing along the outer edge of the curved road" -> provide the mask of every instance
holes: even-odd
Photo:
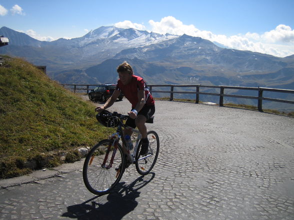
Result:
[[[76,90],[86,90],[88,91],[91,89],[90,86],[96,86],[96,85],[90,85],[90,84],[61,84],[62,86],[71,86],[70,89],[73,89],[73,92],[76,92]],[[79,88],[77,87],[79,86]],[[84,86],[81,87],[80,86]],[[245,99],[255,99],[257,101],[257,108],[259,111],[262,111],[262,101],[272,101],[272,102],[283,102],[283,103],[289,103],[294,104],[294,101],[291,100],[284,100],[284,99],[276,99],[276,98],[268,98],[263,97],[264,91],[269,92],[279,92],[279,93],[289,93],[294,94],[294,90],[289,89],[274,89],[274,88],[264,88],[264,87],[240,87],[240,86],[205,86],[205,85],[148,85],[149,90],[151,93],[169,93],[170,97],[169,100],[173,100],[173,94],[195,94],[195,103],[199,103],[199,96],[200,95],[213,95],[213,96],[219,96],[219,106],[223,106],[223,97],[234,97],[234,98],[245,98]],[[169,90],[153,90],[154,87],[169,87]],[[174,88],[176,87],[190,87],[193,88],[193,91],[174,91]],[[213,92],[201,92],[200,88],[212,88],[212,89],[219,89],[219,93],[213,93]],[[251,90],[256,91],[256,96],[247,96],[247,95],[232,95],[232,94],[225,94],[225,89],[236,89],[236,90]]]

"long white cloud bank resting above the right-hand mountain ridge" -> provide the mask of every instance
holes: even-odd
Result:
[[[261,35],[248,32],[233,36],[213,34],[211,31],[199,30],[193,24],[183,24],[173,16],[163,17],[157,22],[149,20],[149,24],[151,31],[161,34],[187,34],[215,41],[229,48],[267,53],[279,57],[294,54],[294,30],[284,24],[280,24],[274,30],[270,30]]]

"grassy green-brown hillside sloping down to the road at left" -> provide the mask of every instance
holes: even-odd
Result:
[[[92,104],[30,63],[4,60],[0,66],[0,179],[31,172],[28,167],[33,162],[33,169],[64,163],[65,152],[90,147],[109,134],[97,123]]]

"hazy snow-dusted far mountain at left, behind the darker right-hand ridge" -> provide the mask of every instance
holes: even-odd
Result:
[[[0,34],[9,38],[9,44],[0,53],[26,57],[36,65],[50,69],[80,68],[97,64],[113,57],[123,49],[158,43],[178,36],[153,32],[123,29],[114,26],[99,27],[82,37],[57,39],[51,42],[36,40],[24,33],[7,27]],[[28,46],[28,48],[27,48]],[[29,49],[29,53],[27,50]]]

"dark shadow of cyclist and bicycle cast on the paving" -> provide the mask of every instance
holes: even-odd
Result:
[[[135,201],[140,196],[138,191],[146,186],[155,174],[137,178],[129,185],[119,183],[113,192],[104,196],[96,196],[82,204],[67,207],[67,212],[61,217],[77,220],[121,220],[135,209]]]

